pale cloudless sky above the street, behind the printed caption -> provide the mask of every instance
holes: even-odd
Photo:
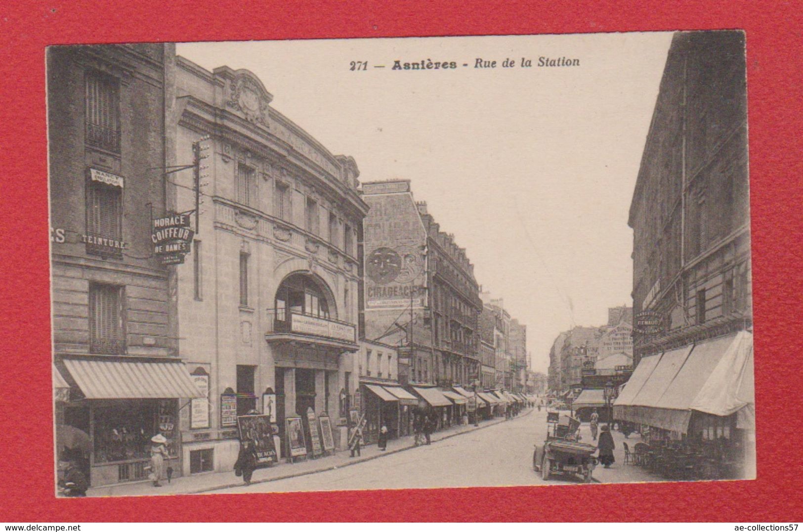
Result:
[[[545,372],[561,331],[632,305],[627,215],[671,35],[180,43],[177,53],[253,72],[271,107],[355,158],[361,181],[410,179],[483,290],[527,325],[532,369]],[[539,67],[540,57],[579,66]],[[393,70],[396,60],[457,68]]]

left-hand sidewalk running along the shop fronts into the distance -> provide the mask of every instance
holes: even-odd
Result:
[[[517,418],[523,415],[528,415],[531,410],[524,411]],[[483,421],[479,427],[474,425],[461,425],[457,427],[450,427],[445,430],[434,432],[432,435],[432,443],[441,440],[446,440],[453,436],[459,436],[467,432],[474,432],[486,427],[500,424],[506,421],[504,418],[495,418],[489,421]],[[590,436],[589,436],[590,438]],[[259,484],[262,482],[279,481],[285,478],[302,477],[304,475],[311,475],[313,473],[320,473],[331,469],[338,469],[348,467],[353,464],[360,464],[368,460],[381,458],[381,456],[388,456],[396,452],[406,451],[407,449],[414,448],[413,436],[403,436],[396,440],[388,441],[388,448],[386,451],[380,451],[376,444],[368,445],[361,449],[362,456],[352,458],[349,451],[339,451],[333,456],[322,456],[316,460],[301,460],[296,464],[288,464],[285,460],[281,460],[279,464],[274,464],[269,468],[257,469],[254,472],[254,477],[251,478],[251,484]],[[133,482],[127,484],[118,484],[110,486],[100,486],[97,488],[90,488],[87,492],[88,497],[109,497],[109,496],[151,496],[151,495],[176,495],[179,493],[204,493],[217,489],[232,488],[234,486],[242,486],[243,479],[236,477],[234,471],[225,471],[220,473],[203,473],[199,475],[192,475],[190,477],[174,478],[169,484],[163,481],[161,488],[154,487],[150,481]]]

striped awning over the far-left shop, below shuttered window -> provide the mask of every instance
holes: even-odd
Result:
[[[64,359],[87,399],[202,399],[183,362]]]

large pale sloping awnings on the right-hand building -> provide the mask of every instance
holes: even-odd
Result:
[[[740,419],[749,424],[752,361],[752,334],[747,331],[642,358],[613,403],[613,415],[686,432],[691,411],[724,416],[744,409]]]

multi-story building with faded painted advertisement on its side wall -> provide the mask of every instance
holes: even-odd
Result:
[[[366,182],[365,337],[401,346],[402,383],[479,379],[479,286],[454,237],[416,203],[410,181]]]

